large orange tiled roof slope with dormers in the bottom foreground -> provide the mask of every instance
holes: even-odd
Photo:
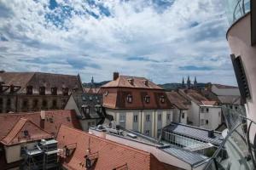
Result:
[[[137,150],[123,144],[102,139],[90,133],[61,126],[57,135],[58,147],[64,148],[68,144],[77,144],[71,156],[62,161],[67,169],[82,170],[85,168],[84,156],[96,155],[93,169],[113,169],[128,167],[128,169],[166,169],[164,164],[153,155],[143,150]],[[90,150],[90,152],[89,152]]]

